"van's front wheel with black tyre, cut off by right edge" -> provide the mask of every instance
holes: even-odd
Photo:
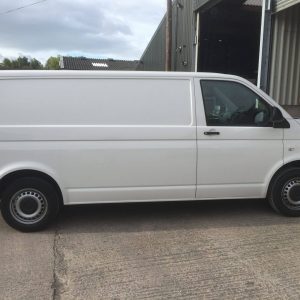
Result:
[[[300,216],[300,168],[282,171],[274,178],[268,193],[272,208],[285,216]]]

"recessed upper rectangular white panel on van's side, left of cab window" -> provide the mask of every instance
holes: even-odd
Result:
[[[189,80],[1,80],[1,125],[188,126]]]

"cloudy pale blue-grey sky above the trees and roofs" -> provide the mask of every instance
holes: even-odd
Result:
[[[166,10],[166,0],[46,0],[4,14],[37,1],[0,0],[0,60],[139,59]]]

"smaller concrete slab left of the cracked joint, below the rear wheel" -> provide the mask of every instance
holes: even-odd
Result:
[[[54,231],[25,234],[0,217],[0,299],[52,299]]]

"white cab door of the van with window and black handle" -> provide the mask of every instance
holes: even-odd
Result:
[[[198,199],[260,198],[283,163],[283,129],[272,106],[234,80],[195,79]]]

